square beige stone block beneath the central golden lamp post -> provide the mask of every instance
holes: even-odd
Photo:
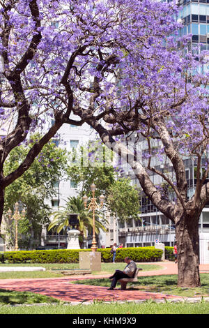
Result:
[[[79,269],[101,271],[100,252],[79,252]]]

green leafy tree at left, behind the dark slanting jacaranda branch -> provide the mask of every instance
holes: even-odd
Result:
[[[5,175],[17,169],[40,137],[38,134],[33,135],[27,147],[15,147],[10,152],[3,167]],[[61,177],[66,165],[66,151],[49,142],[29,170],[6,188],[4,218],[8,246],[14,245],[14,229],[6,212],[8,209],[13,210],[15,202],[20,202],[26,209],[26,218],[18,222],[18,245],[21,248],[33,248],[39,244],[42,226],[49,223],[50,208],[45,200],[54,195],[54,182]]]

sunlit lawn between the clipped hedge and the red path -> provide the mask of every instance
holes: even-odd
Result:
[[[92,274],[111,274],[116,265],[117,269],[124,269],[125,263],[102,263],[101,271],[93,271]],[[157,264],[137,264],[144,271],[162,269]],[[8,271],[0,272],[0,279],[17,279],[17,278],[59,278],[63,275],[56,269],[79,269],[79,263],[23,263],[23,264],[0,264],[1,267],[45,267],[46,271]],[[54,271],[53,271],[54,269]]]

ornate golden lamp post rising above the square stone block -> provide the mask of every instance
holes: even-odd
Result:
[[[96,202],[95,188],[96,188],[95,184],[91,184],[92,198],[90,203],[88,204],[88,207],[87,207],[88,197],[86,195],[84,195],[83,197],[84,206],[93,211],[93,239],[92,239],[92,246],[91,246],[91,251],[93,252],[96,252],[98,249],[97,242],[95,239],[95,209],[101,209],[104,204],[104,195],[100,195],[100,205]]]

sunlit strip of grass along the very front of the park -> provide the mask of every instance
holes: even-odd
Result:
[[[93,302],[90,305],[0,306],[0,314],[208,314],[209,302],[157,303],[152,300],[134,302]],[[102,317],[100,318],[102,320]]]

